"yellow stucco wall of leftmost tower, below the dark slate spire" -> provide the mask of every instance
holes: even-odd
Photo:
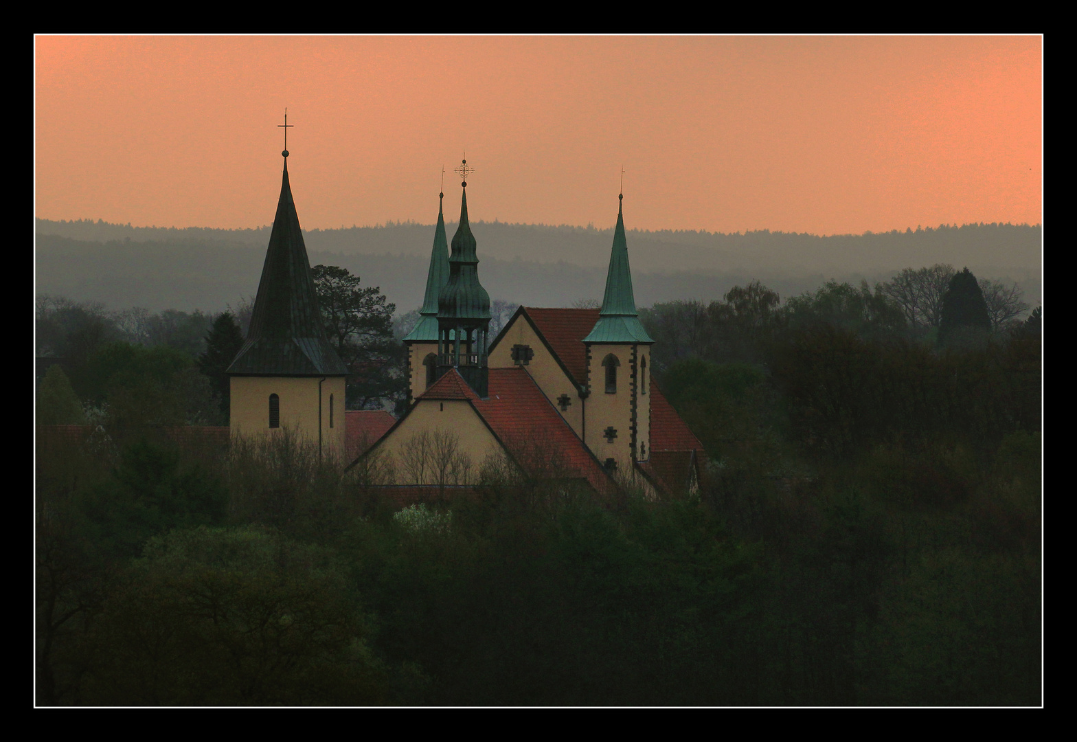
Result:
[[[232,377],[230,425],[234,434],[279,434],[284,428],[298,431],[318,443],[318,382],[322,377]],[[331,376],[322,381],[323,450],[345,447],[345,379]],[[269,428],[269,395],[280,397],[281,428]],[[330,404],[333,424],[330,425]]]

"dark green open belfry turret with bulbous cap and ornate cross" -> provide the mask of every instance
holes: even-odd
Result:
[[[475,237],[467,223],[467,160],[454,170],[461,176],[460,226],[452,236],[449,280],[437,295],[437,376],[456,368],[481,398],[488,396],[487,344],[490,295],[478,282]]]

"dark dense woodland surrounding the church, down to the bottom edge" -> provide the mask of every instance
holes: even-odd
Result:
[[[349,403],[398,403],[404,318],[319,269]],[[42,297],[39,355],[65,361],[38,391],[37,701],[1038,704],[1030,309],[938,264],[656,304],[658,383],[709,458],[697,494],[484,465],[475,493],[402,508],[376,467],[288,435],[166,434],[225,424],[239,304]],[[94,432],[43,433],[71,423]]]

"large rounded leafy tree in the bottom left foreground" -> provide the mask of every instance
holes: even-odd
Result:
[[[365,704],[384,673],[344,574],[257,528],[151,540],[85,636],[90,704]]]

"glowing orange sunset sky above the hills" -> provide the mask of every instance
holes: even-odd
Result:
[[[816,234],[1041,221],[1039,37],[38,37],[36,212]]]

